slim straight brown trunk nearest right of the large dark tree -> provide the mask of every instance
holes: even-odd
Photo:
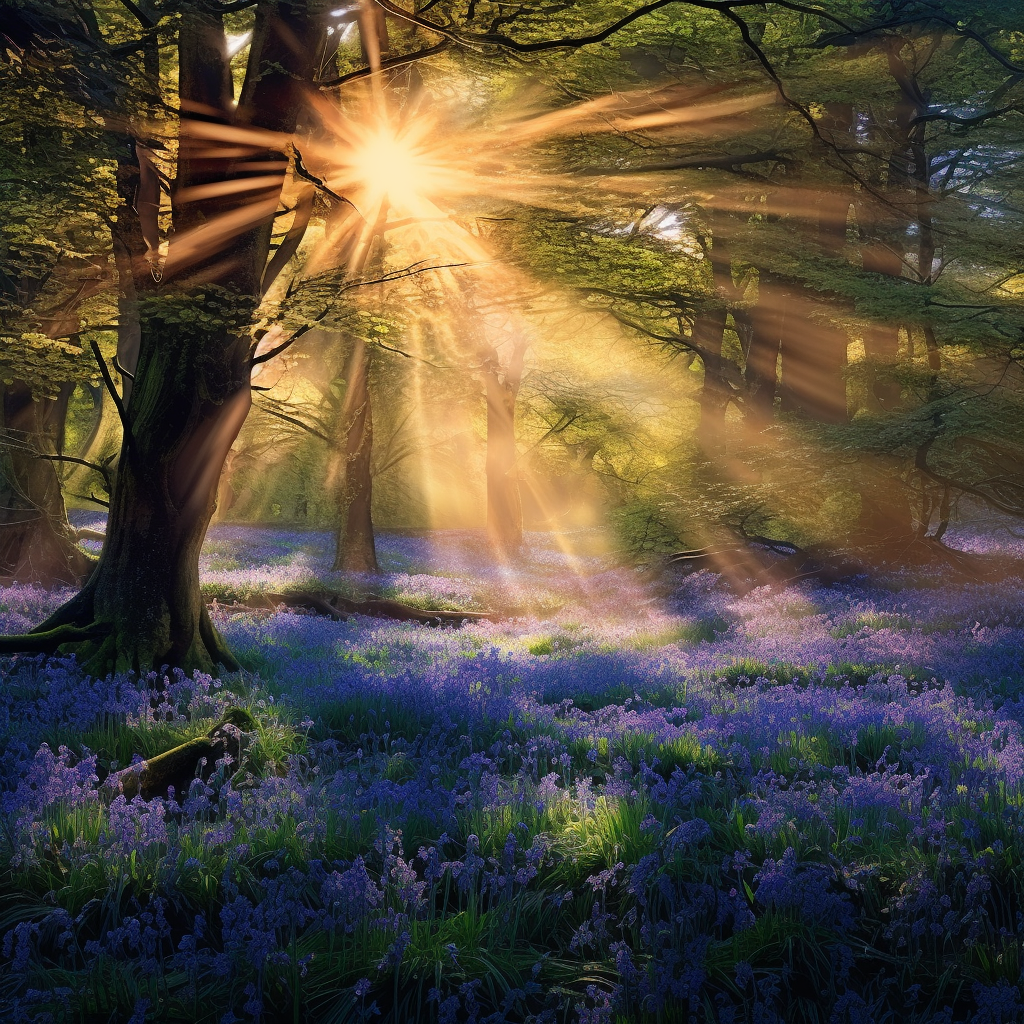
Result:
[[[347,388],[342,407],[345,464],[339,487],[341,514],[334,567],[346,572],[379,572],[374,544],[373,456],[374,418],[370,403],[370,353],[356,338],[346,371]]]

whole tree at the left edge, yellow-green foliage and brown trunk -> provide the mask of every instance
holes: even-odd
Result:
[[[113,182],[94,180],[106,152],[100,132],[76,131],[80,103],[31,60],[0,62],[0,578],[78,584],[94,560],[68,522],[61,479],[77,456],[65,424],[76,386],[99,380],[89,341],[111,315],[101,204]]]

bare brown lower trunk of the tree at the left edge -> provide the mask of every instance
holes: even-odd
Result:
[[[34,399],[14,381],[2,388],[4,443],[0,451],[0,579],[44,587],[78,585],[93,567],[78,547],[58,474],[65,421],[74,384],[56,398]]]

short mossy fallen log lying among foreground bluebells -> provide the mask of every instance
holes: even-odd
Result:
[[[197,736],[156,757],[112,772],[99,787],[100,796],[114,800],[123,794],[125,800],[141,797],[166,797],[173,786],[176,797],[183,797],[198,776],[208,778],[214,765],[225,755],[238,764],[245,745],[246,733],[256,722],[249,712],[232,708],[205,736]],[[205,760],[204,760],[205,759]]]

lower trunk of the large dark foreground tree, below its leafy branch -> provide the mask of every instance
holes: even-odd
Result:
[[[198,331],[180,318],[183,310],[221,326]],[[81,593],[34,631],[88,625],[101,632],[78,651],[87,671],[237,667],[199,587],[220,470],[251,403],[248,338],[224,329],[229,315],[210,294],[142,304],[129,429],[99,564]]]

